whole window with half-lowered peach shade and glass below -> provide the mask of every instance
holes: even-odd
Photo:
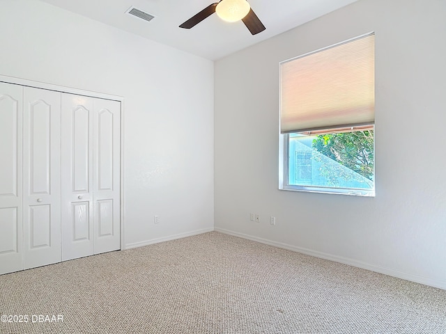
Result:
[[[284,61],[280,76],[280,188],[374,196],[374,33]]]

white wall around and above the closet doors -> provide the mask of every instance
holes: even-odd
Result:
[[[0,74],[125,98],[125,246],[213,229],[213,62],[37,0],[0,31]]]

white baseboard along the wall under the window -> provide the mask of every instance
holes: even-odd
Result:
[[[302,253],[302,254],[305,254],[305,255],[311,255],[311,256],[318,257],[318,258],[321,258],[321,259],[324,259],[324,260],[330,260],[330,261],[339,262],[339,263],[342,263],[342,264],[348,264],[349,266],[353,266],[353,267],[357,267],[357,268],[361,268],[361,269],[367,269],[367,270],[370,270],[370,271],[375,271],[376,273],[383,273],[383,274],[388,275],[388,276],[401,278],[403,280],[410,280],[411,282],[420,283],[420,284],[424,284],[424,285],[429,285],[430,287],[437,287],[439,289],[445,289],[446,290],[446,282],[445,281],[433,280],[431,278],[426,278],[424,276],[413,275],[411,273],[404,273],[402,271],[397,271],[397,270],[394,270],[394,269],[390,269],[390,268],[386,268],[386,267],[380,267],[380,266],[376,266],[374,264],[368,264],[366,262],[353,260],[353,259],[350,259],[348,257],[341,257],[341,256],[337,256],[337,255],[331,255],[331,254],[328,254],[328,253],[322,253],[322,252],[318,252],[316,250],[311,250],[311,249],[308,249],[308,248],[296,247],[296,246],[291,246],[289,244],[284,244],[282,242],[272,241],[272,240],[263,239],[263,238],[259,238],[259,237],[253,237],[252,235],[249,235],[249,234],[233,232],[231,230],[226,230],[224,228],[215,228],[214,230],[216,232],[222,232],[224,234],[233,235],[234,237],[240,237],[240,238],[243,238],[243,239],[257,241],[257,242],[260,242],[261,244],[267,244],[267,245],[275,246],[275,247],[278,247],[278,248],[284,248],[284,249],[287,249],[287,250],[293,250],[293,251],[298,252],[298,253]]]

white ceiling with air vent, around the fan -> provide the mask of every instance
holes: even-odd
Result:
[[[249,0],[266,26],[251,35],[243,22],[226,23],[213,14],[192,29],[178,26],[217,0],[42,0],[164,45],[217,60],[357,0]],[[134,6],[154,15],[151,22],[125,14]]]

